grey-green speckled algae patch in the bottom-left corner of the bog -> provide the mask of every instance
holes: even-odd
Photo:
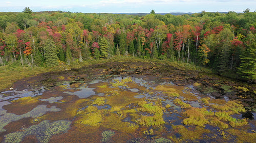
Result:
[[[35,135],[39,142],[49,142],[52,135],[67,132],[70,124],[71,121],[61,120],[50,123],[45,120],[38,125],[24,129],[24,131],[6,134],[5,142],[21,142],[28,135]]]

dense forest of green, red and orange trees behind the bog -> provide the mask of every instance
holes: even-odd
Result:
[[[108,13],[0,13],[0,66],[76,64],[132,56],[209,67],[256,79],[256,12],[138,16]]]

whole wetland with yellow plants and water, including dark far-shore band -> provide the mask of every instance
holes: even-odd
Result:
[[[0,142],[254,142],[255,94],[170,62],[41,73],[0,92]]]

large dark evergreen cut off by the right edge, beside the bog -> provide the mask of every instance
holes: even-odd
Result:
[[[256,42],[247,46],[240,59],[238,73],[249,80],[256,80]]]

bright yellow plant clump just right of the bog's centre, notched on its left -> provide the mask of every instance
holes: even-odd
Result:
[[[164,107],[160,105],[153,105],[153,103],[146,103],[146,101],[139,102],[138,105],[140,106],[137,108],[138,111],[148,112],[153,116],[141,116],[136,123],[143,125],[143,126],[157,126],[164,124],[163,120],[163,110]]]

